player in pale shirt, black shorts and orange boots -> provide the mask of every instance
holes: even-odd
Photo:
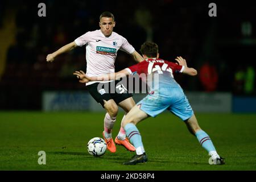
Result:
[[[70,51],[77,46],[86,46],[87,76],[100,76],[106,73],[114,73],[114,63],[118,50],[129,53],[137,62],[143,61],[143,57],[135,51],[133,46],[131,46],[123,36],[113,32],[114,27],[114,15],[105,11],[100,15],[100,30],[86,32],[74,42],[47,55],[47,62],[52,62],[56,56]],[[126,147],[129,151],[135,151],[134,146],[127,139],[125,130],[122,127],[120,128],[117,137],[115,137],[115,143],[112,139],[112,129],[115,123],[115,118],[117,117],[118,106],[122,107],[122,109],[128,113],[128,111],[135,105],[132,94],[118,93],[115,89],[114,93],[111,93],[106,89],[110,88],[112,81],[113,80],[104,81],[104,88],[98,86],[102,81],[90,81],[86,83],[86,88],[89,90],[89,93],[94,100],[100,103],[107,111],[104,118],[103,137],[107,143],[108,150],[110,152],[115,152],[115,143],[117,143]],[[115,86],[118,87],[118,83],[115,84]],[[101,89],[98,89],[98,87]]]

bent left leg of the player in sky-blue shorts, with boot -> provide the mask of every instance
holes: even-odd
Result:
[[[136,155],[131,160],[123,164],[134,165],[137,163],[147,162],[147,155],[142,143],[142,137],[138,128],[135,126],[138,122],[146,119],[147,117],[148,115],[139,109],[139,106],[135,105],[123,119],[122,126],[126,131],[126,135],[136,148]]]

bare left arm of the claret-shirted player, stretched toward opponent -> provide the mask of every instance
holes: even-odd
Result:
[[[76,75],[77,78],[79,78],[80,83],[86,83],[89,81],[109,81],[109,80],[119,80],[122,77],[126,77],[127,75],[130,75],[130,73],[123,69],[117,73],[109,73],[101,76],[86,76],[83,71],[75,71],[73,75]]]

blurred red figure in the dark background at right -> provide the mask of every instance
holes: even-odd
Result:
[[[218,73],[214,65],[206,61],[200,68],[199,78],[204,91],[213,92],[217,88]]]

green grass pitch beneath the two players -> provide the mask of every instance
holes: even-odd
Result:
[[[170,113],[138,124],[146,164],[124,166],[134,153],[117,146],[114,154],[88,154],[86,144],[102,138],[105,113],[30,111],[0,112],[0,170],[255,170],[256,114],[200,114],[199,124],[212,139],[223,166],[210,166],[209,156],[184,123]],[[113,138],[119,131],[119,113]],[[38,152],[46,152],[46,165]]]

